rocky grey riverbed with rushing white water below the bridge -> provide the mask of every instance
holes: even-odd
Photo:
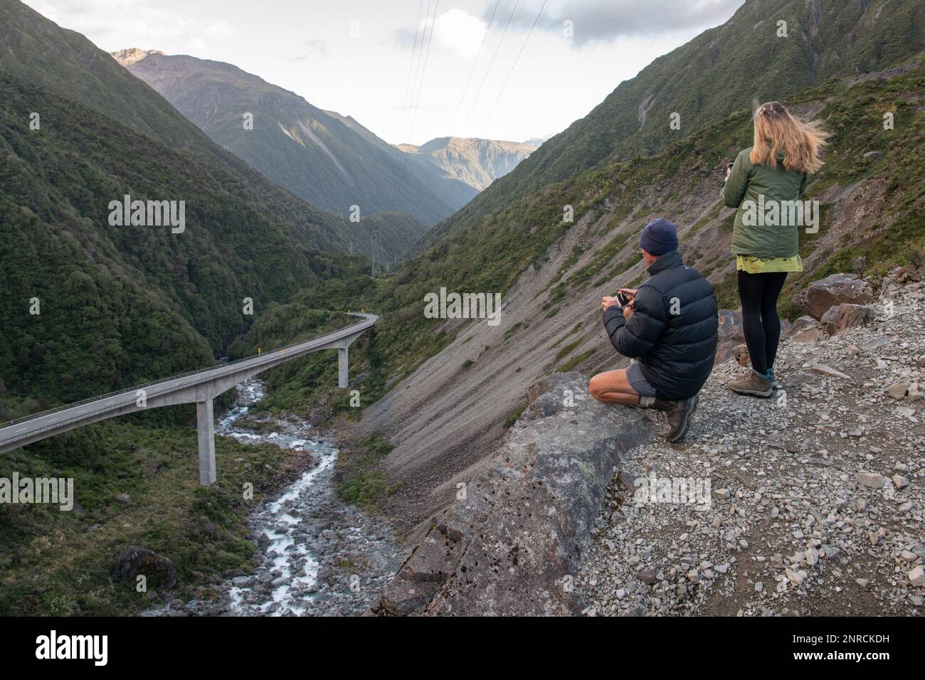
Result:
[[[338,451],[317,440],[294,415],[254,418],[248,414],[264,394],[263,383],[246,380],[235,406],[216,431],[290,452],[291,483],[277,488],[249,517],[253,571],[231,569],[224,581],[182,606],[155,606],[147,615],[336,616],[366,612],[401,564],[388,521],[340,501],[334,493]],[[207,518],[204,534],[224,532]],[[251,573],[247,573],[251,572]],[[181,603],[182,604],[182,603]]]

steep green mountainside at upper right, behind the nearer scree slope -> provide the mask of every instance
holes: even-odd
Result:
[[[787,37],[778,37],[778,21]],[[666,148],[754,100],[785,99],[831,77],[916,54],[920,0],[747,0],[722,26],[660,56],[552,137],[425,240],[464,229],[575,173]],[[680,115],[680,130],[670,127]]]

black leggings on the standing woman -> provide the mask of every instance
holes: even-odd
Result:
[[[762,376],[774,365],[781,341],[781,318],[777,315],[777,296],[783,289],[786,272],[748,274],[738,272],[739,299],[742,301],[742,329],[746,336],[752,368]]]

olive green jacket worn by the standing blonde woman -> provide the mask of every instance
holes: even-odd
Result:
[[[752,202],[754,216],[761,204],[767,206],[778,202],[780,205],[784,201],[798,201],[806,191],[808,175],[785,169],[783,153],[777,156],[777,167],[763,163],[756,166],[748,157],[751,152],[752,147],[749,146],[736,156],[733,173],[722,188],[722,202],[726,207],[738,208],[732,251],[737,255],[756,257],[793,257],[799,251],[797,231],[800,228],[796,224],[748,225],[743,217],[748,212],[749,202]]]

